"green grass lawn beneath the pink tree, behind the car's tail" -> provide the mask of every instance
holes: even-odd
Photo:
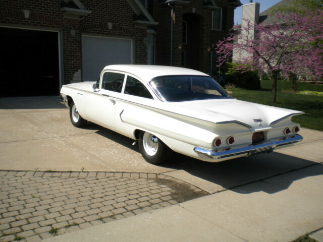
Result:
[[[316,95],[292,93],[288,82],[279,81],[276,102],[271,101],[271,82],[263,80],[261,90],[246,90],[240,88],[230,89],[232,96],[249,102],[256,102],[276,107],[284,107],[306,112],[303,115],[294,116],[293,122],[299,123],[301,127],[323,131],[323,85],[302,83],[299,91],[314,91]],[[287,92],[286,92],[287,91]]]

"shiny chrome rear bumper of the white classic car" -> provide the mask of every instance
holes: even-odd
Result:
[[[277,140],[272,140],[270,142],[266,142],[262,144],[248,145],[245,147],[224,150],[224,151],[213,151],[213,150],[207,150],[207,149],[195,147],[194,152],[197,154],[204,155],[207,158],[213,158],[213,159],[223,159],[228,157],[234,158],[233,156],[238,156],[238,155],[247,156],[247,155],[256,154],[256,153],[271,152],[274,149],[283,148],[285,146],[292,145],[302,140],[303,140],[303,137],[301,135],[294,135],[286,139],[277,139]]]

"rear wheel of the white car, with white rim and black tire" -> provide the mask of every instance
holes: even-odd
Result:
[[[167,145],[148,132],[139,134],[139,150],[142,157],[151,164],[163,163],[171,154]]]

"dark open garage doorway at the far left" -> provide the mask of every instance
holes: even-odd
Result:
[[[0,27],[0,96],[59,95],[58,35]]]

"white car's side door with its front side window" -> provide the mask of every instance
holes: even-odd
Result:
[[[106,71],[100,87],[87,95],[86,113],[89,120],[107,128],[115,128],[116,98],[120,96],[125,74]]]

